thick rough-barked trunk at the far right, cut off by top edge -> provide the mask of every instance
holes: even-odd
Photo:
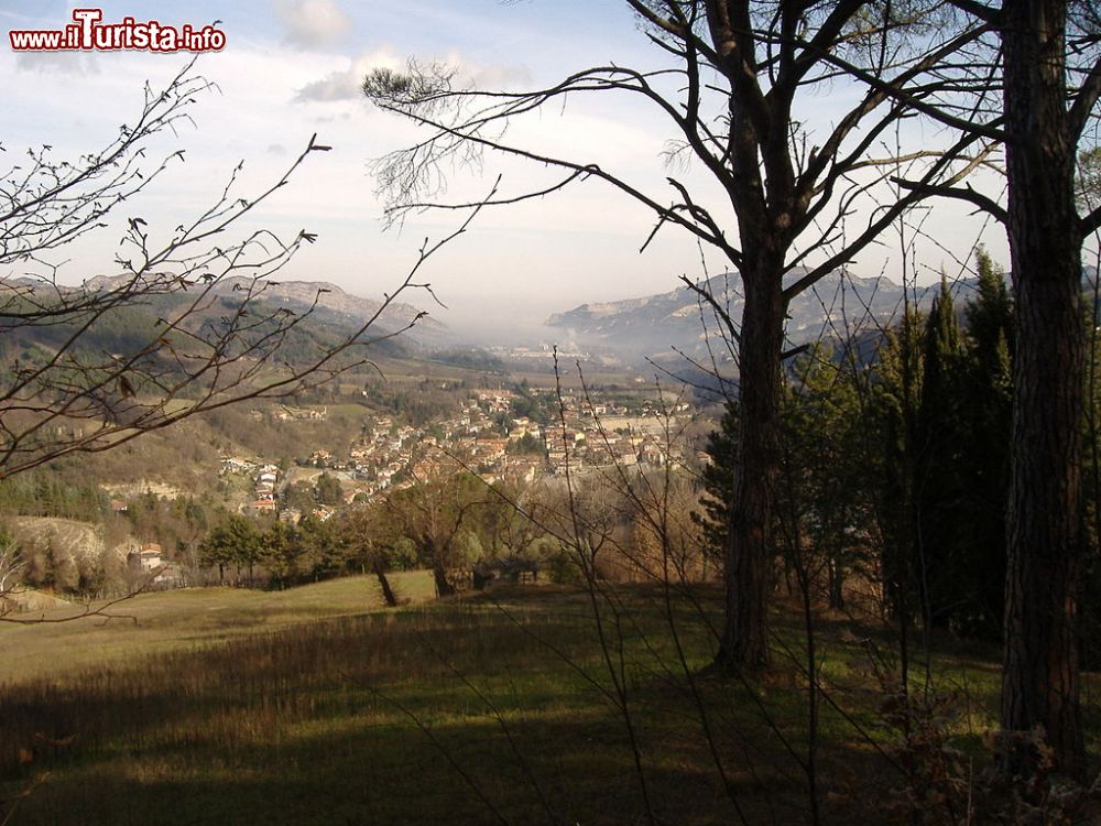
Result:
[[[1017,350],[1002,726],[1043,726],[1059,767],[1075,771],[1083,757],[1076,624],[1084,339],[1066,3],[1020,0],[1003,13]]]

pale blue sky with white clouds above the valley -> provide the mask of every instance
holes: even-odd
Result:
[[[6,30],[62,29],[73,23],[74,8],[88,6],[0,0],[0,23]],[[129,15],[199,29],[220,20],[226,34],[225,47],[196,64],[217,90],[199,96],[192,123],[151,146],[151,155],[185,149],[186,162],[128,204],[128,215],[140,215],[154,232],[171,231],[218,198],[239,162],[244,166],[238,192],[254,195],[277,181],[316,133],[333,151],[312,153],[258,220],[288,236],[299,229],[318,236],[281,278],[330,281],[370,297],[401,283],[424,240],[447,236],[461,215],[414,214],[400,228],[385,228],[371,161],[407,145],[417,132],[363,99],[359,85],[368,70],[401,68],[413,56],[446,62],[479,88],[523,89],[590,65],[654,67],[662,58],[615,0],[129,0],[102,12],[106,23]],[[140,111],[144,84],[162,88],[186,62],[144,51],[15,53],[4,41],[0,160],[6,170],[29,146],[48,143],[55,157],[75,160],[106,145]],[[846,96],[837,88],[815,101],[810,120],[828,122]],[[908,129],[912,140],[936,141],[922,127]],[[667,124],[636,101],[606,95],[571,99],[509,132],[513,143],[600,163],[662,202],[672,197],[665,183],[671,169],[663,161],[672,137]],[[702,203],[721,200],[700,170],[675,173]],[[443,197],[477,199],[498,174],[504,195],[553,180],[532,164],[487,157],[480,172],[448,170]],[[922,244],[919,280],[931,281],[940,269],[955,275],[957,259],[980,238],[1006,263],[1003,235],[963,207],[938,206],[924,220],[929,240]],[[682,275],[724,269],[683,232],[663,230],[640,254],[652,228],[643,207],[587,181],[535,202],[483,210],[418,275],[446,308],[423,293],[406,297],[471,338],[506,330],[539,340],[552,312],[665,292]],[[110,274],[118,240],[119,229],[111,227],[58,253],[57,261],[65,262],[61,280]],[[851,267],[859,275],[882,272],[897,280],[902,259],[897,239],[887,237]]]

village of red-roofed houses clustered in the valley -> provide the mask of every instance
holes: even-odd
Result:
[[[526,413],[521,413],[525,411]],[[265,414],[253,411],[261,420]],[[280,421],[324,421],[327,410],[280,405]],[[577,477],[608,470],[644,470],[666,464],[696,466],[708,456],[690,444],[686,426],[697,412],[684,399],[613,403],[598,391],[553,388],[477,389],[453,415],[421,426],[400,416],[367,414],[346,450],[318,448],[282,464],[272,457],[229,455],[219,477],[249,480],[251,498],[238,509],[296,523],[303,515],[287,496],[295,485],[325,476],[339,485],[339,501],[315,503],[324,521],[341,506],[370,502],[464,469],[486,485],[531,483],[543,477]]]

